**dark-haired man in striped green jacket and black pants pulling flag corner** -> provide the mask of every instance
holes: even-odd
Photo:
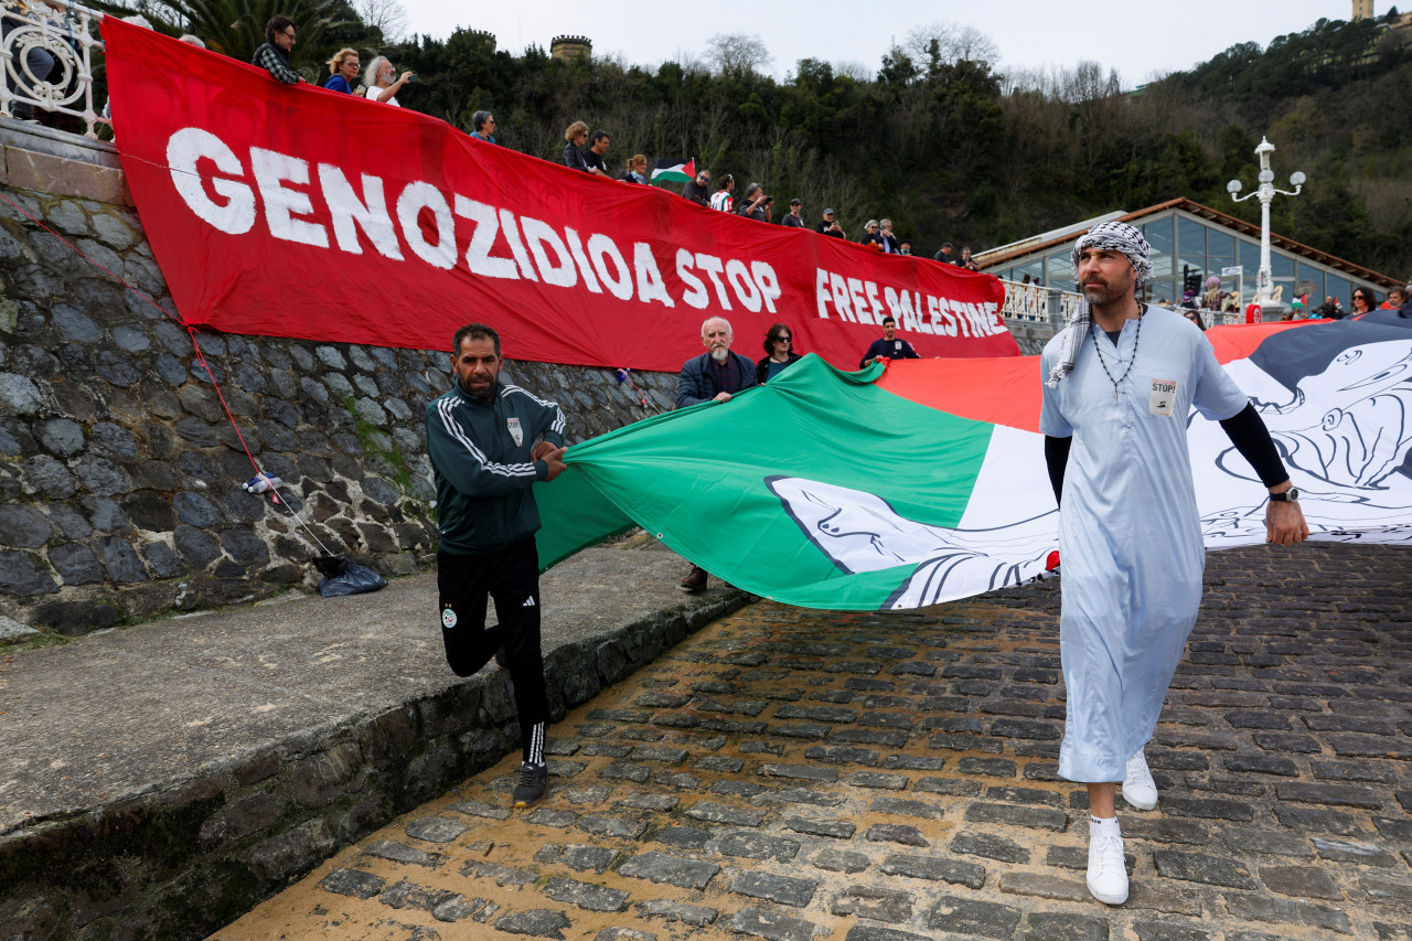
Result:
[[[504,647],[520,712],[524,763],[515,807],[544,797],[549,701],[539,653],[539,510],[530,487],[563,470],[559,406],[500,386],[500,335],[484,324],[456,332],[449,393],[426,406],[426,451],[436,472],[436,588],[446,661],[469,677]],[[542,438],[535,444],[537,438]],[[498,625],[486,629],[486,596]]]

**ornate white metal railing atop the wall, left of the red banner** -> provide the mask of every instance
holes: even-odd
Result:
[[[0,114],[31,117],[35,109],[82,119],[89,137],[106,123],[93,107],[93,49],[103,49],[103,14],[64,0],[3,0]]]

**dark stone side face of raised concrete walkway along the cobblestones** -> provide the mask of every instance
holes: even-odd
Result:
[[[719,586],[554,647],[546,639],[551,719],[751,600]],[[28,819],[0,835],[0,935],[205,937],[517,747],[508,674],[487,670]]]

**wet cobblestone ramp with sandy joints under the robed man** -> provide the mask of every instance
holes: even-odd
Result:
[[[1056,777],[1053,585],[902,615],[757,603],[215,937],[1412,938],[1412,552],[1211,555],[1132,894]]]

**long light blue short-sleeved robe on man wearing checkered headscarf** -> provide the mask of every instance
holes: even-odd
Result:
[[[1042,379],[1059,357],[1045,346]],[[1097,343],[1097,348],[1094,346]],[[1101,350],[1108,373],[1099,362]],[[1166,391],[1158,384],[1175,381]],[[1161,401],[1171,396],[1171,415]],[[1247,396],[1226,374],[1206,335],[1180,314],[1148,307],[1124,321],[1117,348],[1097,326],[1073,372],[1043,387],[1039,430],[1073,437],[1059,513],[1063,609],[1059,653],[1067,691],[1059,774],[1121,781],[1147,745],[1202,603],[1202,545],[1186,449],[1195,406],[1211,420],[1240,413]]]

